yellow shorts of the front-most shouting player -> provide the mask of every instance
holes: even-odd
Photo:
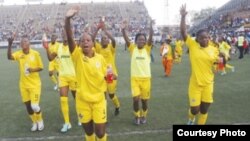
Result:
[[[91,120],[93,120],[94,123],[107,122],[106,99],[94,103],[83,100],[76,100],[76,109],[78,111],[78,117],[82,123],[88,123]]]

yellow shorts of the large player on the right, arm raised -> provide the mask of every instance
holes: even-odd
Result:
[[[201,102],[213,103],[214,84],[199,86],[196,82],[190,81],[188,88],[190,106],[199,106]]]

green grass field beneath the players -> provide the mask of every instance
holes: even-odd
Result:
[[[74,101],[70,95],[70,113],[73,128],[66,134],[59,132],[63,124],[59,95],[53,90],[47,71],[48,60],[43,49],[38,49],[44,63],[41,72],[41,108],[45,122],[42,132],[31,132],[31,121],[19,95],[19,70],[16,62],[7,60],[6,49],[0,50],[0,140],[1,141],[82,141],[83,129],[77,126]],[[132,98],[130,91],[130,55],[123,45],[117,50],[119,81],[117,95],[121,102],[118,117],[113,115],[114,106],[108,100],[109,141],[172,141],[172,125],[185,124],[188,110],[188,80],[190,66],[187,54],[181,64],[175,64],[171,77],[164,77],[159,47],[153,49],[152,97],[149,101],[148,122],[133,125]],[[229,62],[236,72],[216,74],[214,103],[207,124],[250,123],[250,55],[239,60],[234,56]]]

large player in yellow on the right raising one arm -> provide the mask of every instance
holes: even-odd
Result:
[[[218,60],[218,49],[208,45],[209,34],[206,30],[199,30],[196,39],[193,40],[186,31],[186,5],[180,9],[181,35],[189,49],[191,62],[191,77],[189,81],[189,121],[194,124],[195,116],[198,116],[198,124],[205,124],[208,109],[213,102],[214,73],[212,68]]]

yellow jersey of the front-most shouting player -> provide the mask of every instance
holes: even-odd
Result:
[[[95,53],[93,57],[85,56],[81,48],[75,48],[72,60],[75,65],[77,79],[77,100],[99,102],[105,99],[107,83],[104,79],[107,63],[102,55]]]

